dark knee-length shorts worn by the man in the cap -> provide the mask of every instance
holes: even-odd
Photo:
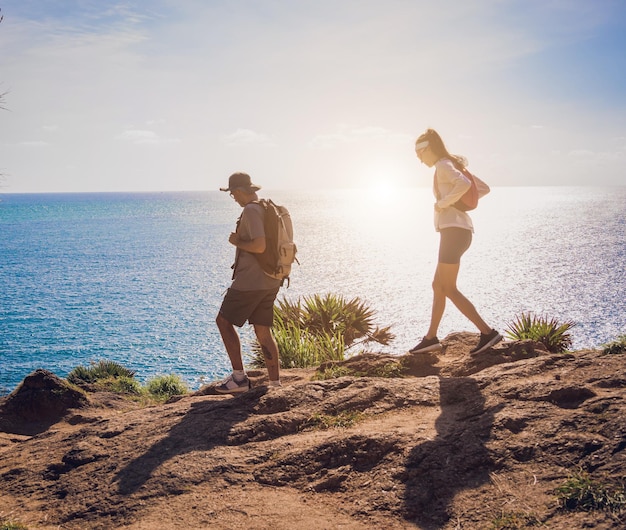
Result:
[[[274,300],[278,289],[263,291],[236,291],[228,289],[220,307],[220,315],[233,326],[246,323],[271,327],[274,323]]]

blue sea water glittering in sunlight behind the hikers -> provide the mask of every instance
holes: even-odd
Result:
[[[438,239],[427,189],[269,191],[300,265],[281,295],[360,297],[403,353],[428,327]],[[626,333],[626,188],[495,188],[472,213],[460,289],[498,329],[573,320],[575,348]],[[30,372],[111,359],[190,388],[230,371],[214,320],[240,208],[225,193],[0,195],[0,395]],[[440,337],[472,325],[450,305]],[[251,333],[242,330],[247,350]]]

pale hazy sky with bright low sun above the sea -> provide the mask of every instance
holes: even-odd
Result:
[[[626,185],[623,0],[0,0],[0,192]]]

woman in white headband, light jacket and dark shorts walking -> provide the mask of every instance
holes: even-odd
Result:
[[[454,204],[471,186],[469,178],[463,174],[467,162],[460,156],[448,153],[441,137],[433,129],[428,129],[417,139],[415,154],[423,164],[435,167],[433,183],[437,200],[435,230],[440,234],[440,243],[439,259],[433,279],[430,327],[422,341],[410,352],[425,353],[441,350],[437,330],[446,307],[446,298],[448,298],[480,331],[478,345],[470,352],[480,353],[500,342],[502,335],[481,318],[474,305],[456,286],[461,256],[469,248],[474,232],[470,216],[454,207]]]

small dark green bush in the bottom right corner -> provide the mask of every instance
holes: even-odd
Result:
[[[619,488],[593,480],[585,471],[569,477],[556,490],[561,507],[565,510],[607,510],[621,512],[626,508],[624,486]]]

